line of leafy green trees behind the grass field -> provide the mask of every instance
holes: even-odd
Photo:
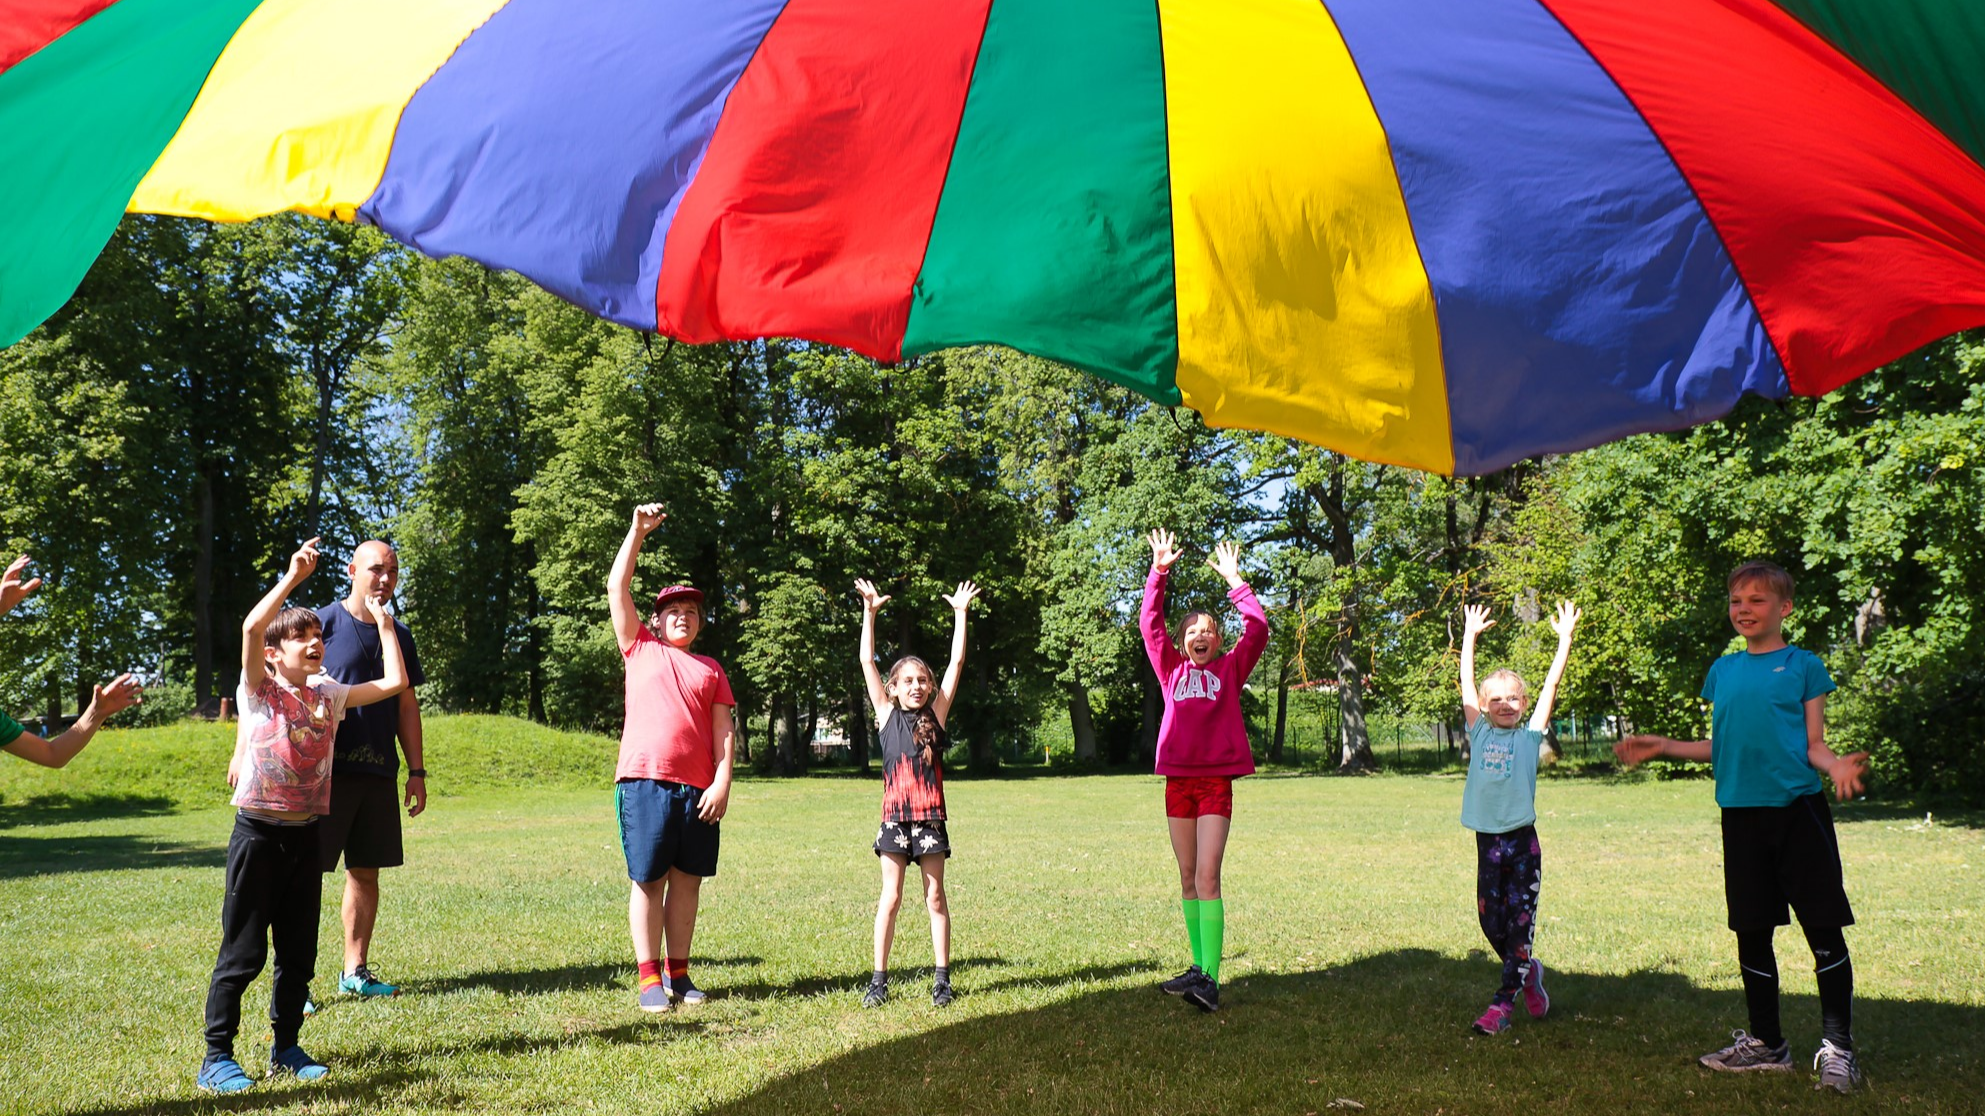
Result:
[[[617,731],[605,572],[629,508],[661,500],[637,592],[705,590],[701,649],[776,770],[808,765],[822,723],[869,749],[856,578],[895,596],[889,657],[943,657],[939,594],[985,588],[953,719],[971,768],[1042,723],[1080,763],[1147,763],[1159,697],[1133,620],[1143,532],[1167,526],[1199,554],[1247,544],[1274,629],[1249,695],[1270,761],[1294,685],[1334,693],[1350,770],[1380,763],[1374,713],[1453,727],[1463,604],[1519,620],[1485,663],[1540,677],[1560,596],[1586,610],[1560,715],[1701,735],[1723,574],[1765,556],[1798,576],[1788,635],[1840,681],[1832,735],[1910,794],[1985,786],[1979,336],[1822,399],[1441,479],[1213,431],[1010,349],[685,346],[371,228],[129,216],[0,351],[0,536],[48,582],[0,626],[16,713],[75,709],[125,667],[153,679],[147,715],[212,705],[234,685],[224,633],[322,534],[399,548],[423,703]],[[1175,610],[1225,608],[1209,570],[1181,574]]]

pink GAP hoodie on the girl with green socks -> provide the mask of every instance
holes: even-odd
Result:
[[[1247,725],[1241,721],[1241,683],[1268,649],[1268,614],[1247,586],[1227,590],[1227,600],[1241,610],[1241,641],[1205,667],[1195,667],[1165,629],[1165,572],[1153,566],[1143,582],[1137,622],[1143,651],[1165,693],[1165,723],[1157,729],[1159,774],[1255,774],[1255,753],[1247,747]]]

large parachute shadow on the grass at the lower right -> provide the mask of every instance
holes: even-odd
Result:
[[[1806,983],[1790,973],[1788,985]],[[1786,995],[1798,1072],[1711,1074],[1695,1056],[1745,1023],[1737,989],[1667,971],[1550,973],[1552,1013],[1481,1037],[1497,967],[1395,951],[1330,971],[1235,977],[1201,1015],[1151,987],[961,1017],[901,1035],[923,1005],[873,1017],[901,1035],[770,1080],[713,1112],[1777,1112],[1814,1106],[1814,995]],[[961,971],[963,997],[992,991]],[[1856,1110],[1977,1112],[1985,1007],[1864,999]],[[856,1009],[850,1009],[854,1015]],[[1519,1013],[1522,1015],[1522,1013]],[[1828,1098],[1832,1100],[1832,1098]]]

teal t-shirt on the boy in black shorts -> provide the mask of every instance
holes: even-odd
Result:
[[[1709,663],[1703,701],[1717,806],[1786,806],[1818,794],[1820,772],[1806,763],[1806,703],[1832,691],[1826,663],[1804,647],[1733,651]]]

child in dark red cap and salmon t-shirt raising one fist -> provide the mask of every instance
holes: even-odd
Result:
[[[641,1011],[705,999],[689,981],[689,939],[697,931],[703,880],[717,876],[717,822],[730,800],[730,709],[736,705],[717,659],[689,651],[703,629],[703,594],[691,586],[661,590],[645,622],[633,602],[641,542],[665,518],[661,504],[637,506],[607,574],[613,637],[627,669],[613,802],[633,882],[627,929],[641,971]]]

